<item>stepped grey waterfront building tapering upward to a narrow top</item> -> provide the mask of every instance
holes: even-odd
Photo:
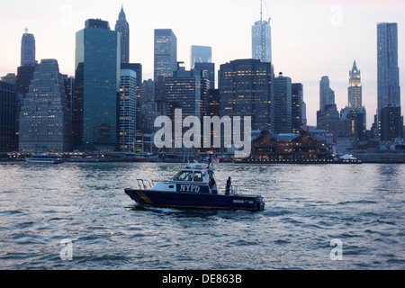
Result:
[[[21,153],[70,150],[70,114],[58,61],[43,59],[35,69],[20,112]]]

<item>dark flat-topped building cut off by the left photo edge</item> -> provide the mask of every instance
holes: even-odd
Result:
[[[15,85],[0,81],[0,152],[12,152],[17,149],[16,105]]]

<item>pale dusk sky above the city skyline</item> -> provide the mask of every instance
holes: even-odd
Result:
[[[398,23],[401,87],[405,86],[405,1],[263,0],[271,18],[275,74],[304,86],[309,125],[320,108],[320,78],[329,76],[338,110],[347,105],[349,70],[361,70],[367,128],[377,109],[377,23]],[[260,19],[260,0],[14,0],[0,10],[0,76],[20,66],[25,28],[36,40],[36,58],[56,58],[60,72],[75,75],[76,31],[101,18],[112,29],[121,11],[130,23],[130,62],[141,63],[143,79],[153,78],[155,29],[172,29],[177,60],[190,66],[192,45],[212,47],[212,62],[251,58],[251,27]],[[405,107],[405,97],[401,105]],[[403,111],[403,110],[402,110]]]

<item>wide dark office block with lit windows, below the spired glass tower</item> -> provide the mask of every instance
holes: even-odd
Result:
[[[220,66],[220,117],[250,116],[252,130],[272,130],[274,71],[271,63],[238,59]]]

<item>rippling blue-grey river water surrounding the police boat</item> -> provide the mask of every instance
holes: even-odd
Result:
[[[0,269],[405,268],[405,165],[216,166],[217,183],[264,197],[257,213],[144,209],[123,192],[180,168],[0,164]]]

